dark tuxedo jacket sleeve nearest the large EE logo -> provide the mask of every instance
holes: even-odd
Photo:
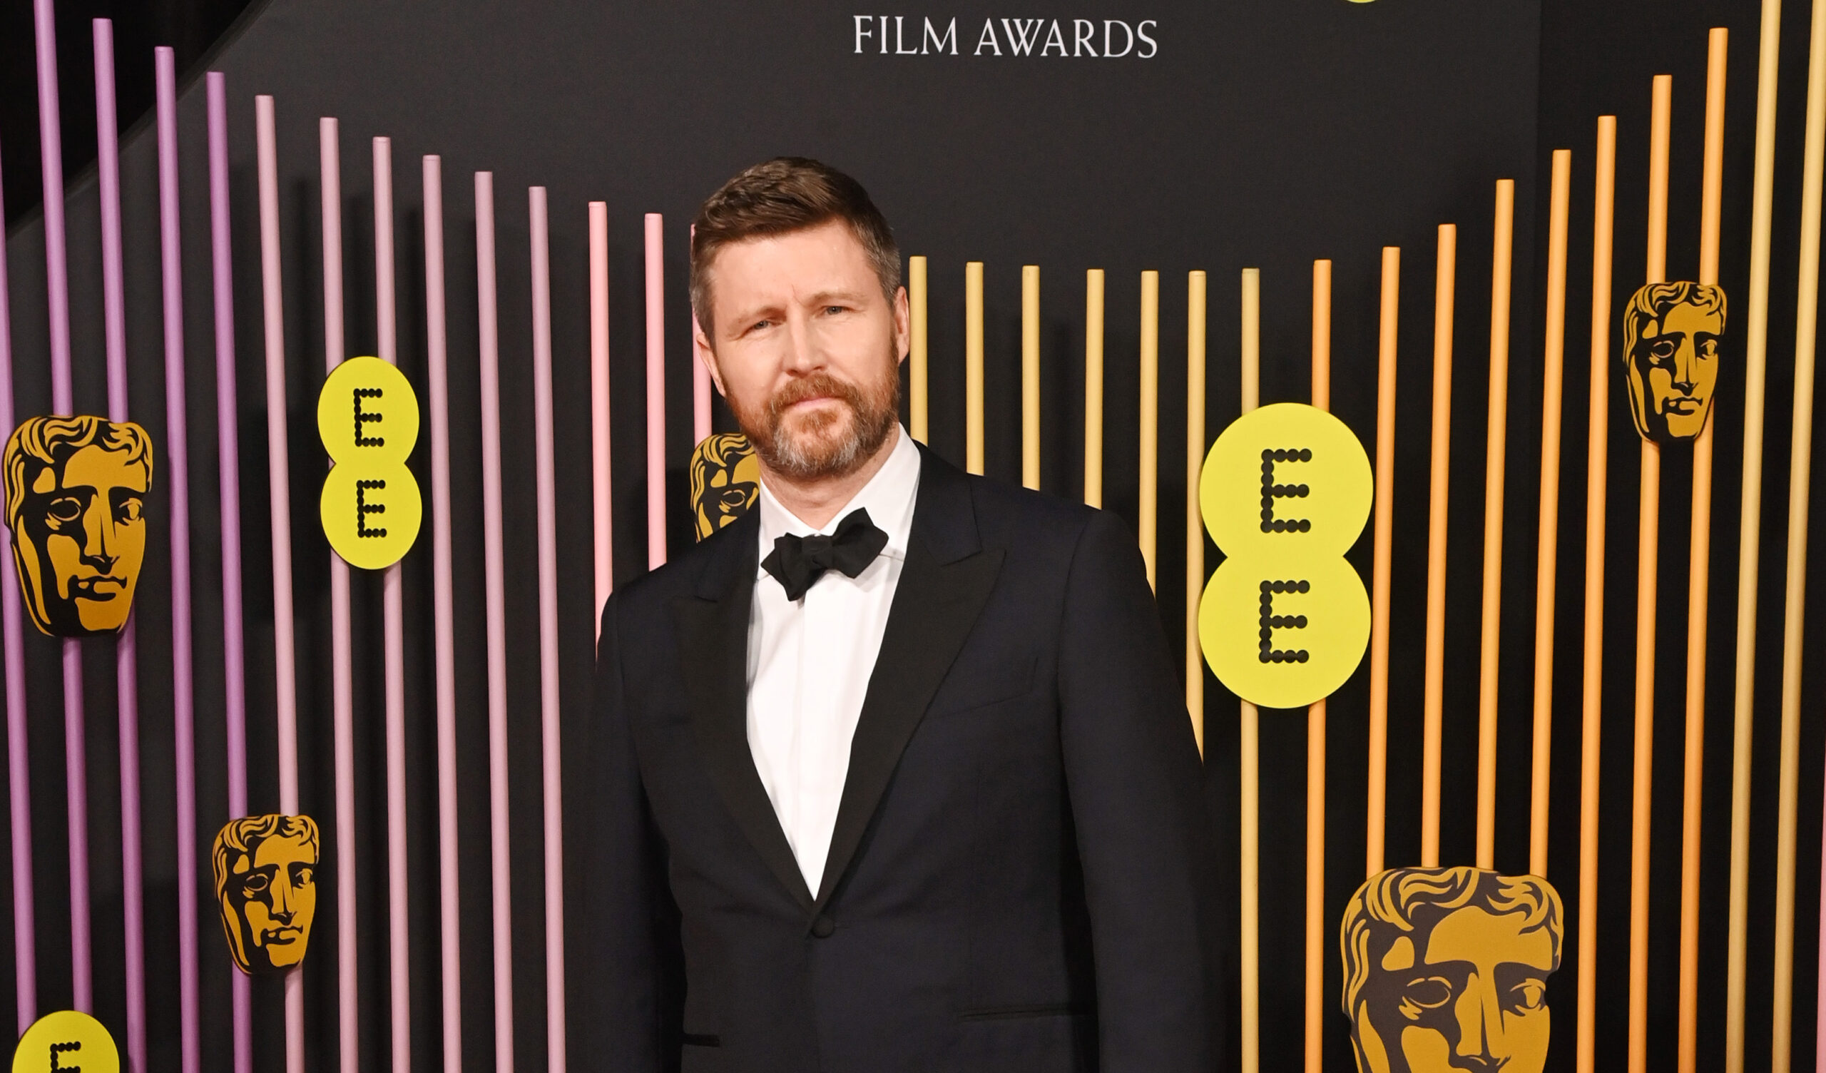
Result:
[[[1134,536],[1079,536],[1059,639],[1103,1073],[1216,1068],[1216,859],[1202,766]]]

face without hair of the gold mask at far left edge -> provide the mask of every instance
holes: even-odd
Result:
[[[146,467],[79,449],[33,478],[15,540],[33,619],[64,637],[126,626],[146,558]]]

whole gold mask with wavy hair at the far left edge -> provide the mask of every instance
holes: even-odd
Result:
[[[5,445],[5,524],[31,620],[115,633],[146,562],[152,438],[131,422],[29,418]]]

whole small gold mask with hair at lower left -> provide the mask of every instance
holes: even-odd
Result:
[[[318,914],[318,825],[309,816],[230,819],[215,836],[215,905],[243,973],[305,960]]]

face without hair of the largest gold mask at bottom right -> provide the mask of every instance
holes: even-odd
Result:
[[[1386,1073],[1541,1073],[1554,945],[1547,929],[1523,932],[1523,920],[1464,907],[1432,934],[1397,940],[1357,1013],[1359,1037],[1377,1037],[1371,1062],[1386,1060]]]

